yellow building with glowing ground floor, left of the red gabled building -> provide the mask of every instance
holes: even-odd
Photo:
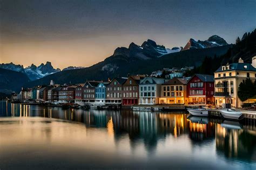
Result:
[[[186,102],[185,79],[174,77],[170,81],[161,85],[160,104],[185,104]]]

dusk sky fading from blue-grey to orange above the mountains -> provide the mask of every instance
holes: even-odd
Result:
[[[172,48],[256,26],[255,1],[0,0],[0,63],[91,66],[152,39]]]

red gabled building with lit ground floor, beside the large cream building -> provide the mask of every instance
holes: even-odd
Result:
[[[213,104],[214,76],[195,74],[187,82],[188,104]]]

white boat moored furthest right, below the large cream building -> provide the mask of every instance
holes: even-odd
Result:
[[[219,110],[221,113],[221,116],[224,119],[229,119],[233,121],[240,121],[241,119],[244,118],[244,115],[242,114],[241,111],[239,110],[234,110],[234,109],[221,109]]]

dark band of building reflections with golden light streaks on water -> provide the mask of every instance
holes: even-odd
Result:
[[[184,114],[150,111],[109,111],[62,109],[59,107],[42,107],[4,103],[0,116],[28,117],[40,116],[84,123],[87,127],[106,128],[107,133],[116,142],[124,135],[129,135],[130,146],[135,148],[143,141],[147,151],[154,151],[159,140],[171,135],[179,138],[188,135],[192,145],[203,144],[202,141],[215,140],[217,153],[226,158],[256,161],[255,124],[239,122],[220,122],[219,119],[189,117]],[[1,104],[2,106],[2,104]]]

